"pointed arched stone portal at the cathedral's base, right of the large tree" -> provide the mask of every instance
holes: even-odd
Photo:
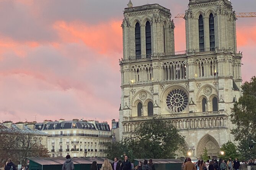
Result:
[[[220,153],[220,146],[218,142],[209,134],[204,135],[197,144],[197,157],[201,157],[204,149],[207,149],[208,156],[218,156]]]

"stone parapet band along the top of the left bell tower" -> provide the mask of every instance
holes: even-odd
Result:
[[[131,8],[124,8],[124,13],[130,13],[130,12],[138,12],[138,11],[146,11],[146,10],[154,10],[158,9],[166,14],[171,14],[170,10],[155,3],[155,4],[146,4],[142,6],[134,6]]]

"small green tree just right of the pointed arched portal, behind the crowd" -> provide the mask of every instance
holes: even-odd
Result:
[[[242,159],[237,146],[234,143],[232,143],[231,141],[224,143],[222,145],[222,147],[220,148],[220,150],[224,152],[223,155],[221,155],[221,154],[219,155],[219,158],[221,158],[221,159],[225,159],[225,160],[228,160],[229,158],[231,158],[232,160],[234,160],[235,158],[237,158],[239,160]]]

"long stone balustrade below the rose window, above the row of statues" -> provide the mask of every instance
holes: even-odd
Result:
[[[193,113],[175,113],[175,114],[163,114],[155,115],[163,119],[178,119],[178,118],[193,118],[193,117],[210,117],[216,115],[227,115],[226,111],[216,111],[216,112],[193,112]],[[153,116],[139,116],[139,117],[124,117],[124,122],[129,121],[143,121],[150,120]]]

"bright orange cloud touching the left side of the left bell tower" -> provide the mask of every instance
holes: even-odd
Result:
[[[122,53],[121,21],[109,21],[97,25],[87,25],[78,21],[57,21],[54,28],[65,42],[82,41],[100,54]]]

